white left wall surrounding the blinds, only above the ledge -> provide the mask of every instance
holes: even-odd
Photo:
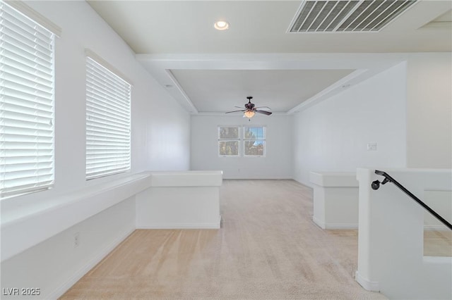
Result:
[[[130,173],[188,170],[189,113],[144,70],[116,32],[85,1],[26,3],[62,29],[61,37],[55,39],[55,185],[12,202],[35,202],[124,176],[85,180],[85,49],[101,56],[133,84]]]

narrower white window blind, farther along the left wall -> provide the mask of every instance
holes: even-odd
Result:
[[[131,168],[131,85],[86,58],[86,179]]]

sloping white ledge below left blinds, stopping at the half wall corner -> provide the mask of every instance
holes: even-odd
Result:
[[[6,261],[148,187],[149,173],[138,173],[49,199],[45,207],[35,207],[34,211],[27,212],[20,207],[6,211],[2,207],[1,242],[8,244],[8,247],[1,249],[1,261]]]

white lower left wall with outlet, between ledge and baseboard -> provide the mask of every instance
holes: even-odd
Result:
[[[39,296],[1,299],[57,299],[135,230],[135,198],[129,198],[1,263],[2,291],[40,289]],[[74,235],[79,244],[74,246]]]

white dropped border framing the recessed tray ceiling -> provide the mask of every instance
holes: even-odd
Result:
[[[406,53],[136,54],[136,59],[163,87],[174,82],[168,70],[355,70],[299,106],[290,109],[287,113],[291,115],[391,68],[406,60],[409,55]],[[167,92],[179,101],[186,111],[191,111],[191,106],[187,104],[181,89],[170,88]]]

